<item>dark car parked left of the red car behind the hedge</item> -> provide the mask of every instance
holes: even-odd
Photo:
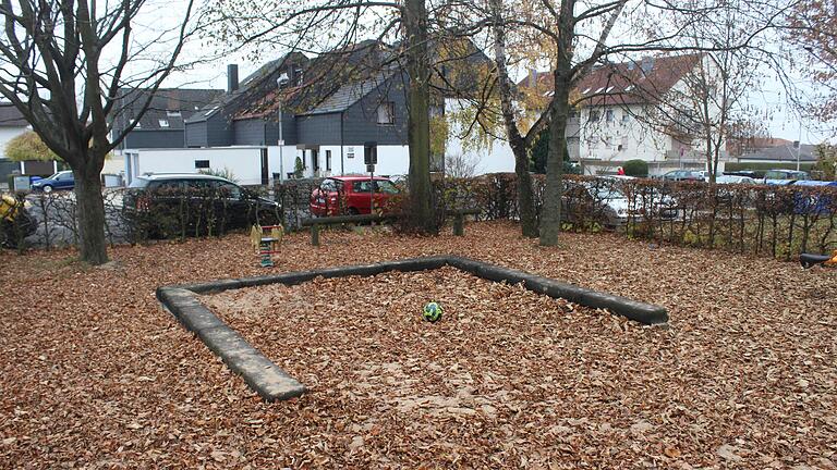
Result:
[[[124,210],[134,222],[166,236],[241,228],[280,220],[280,206],[228,180],[204,174],[150,174],[131,182]]]

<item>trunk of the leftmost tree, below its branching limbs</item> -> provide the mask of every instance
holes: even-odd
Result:
[[[92,158],[92,160],[99,160]],[[104,159],[101,159],[104,160]],[[75,201],[78,215],[78,251],[82,261],[97,265],[108,262],[105,242],[105,202],[101,197],[101,164],[86,164],[73,169]]]

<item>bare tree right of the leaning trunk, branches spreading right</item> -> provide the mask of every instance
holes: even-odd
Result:
[[[548,121],[550,136],[539,231],[541,244],[545,246],[554,246],[558,242],[566,131],[570,109],[579,101],[571,99],[571,92],[594,65],[654,51],[708,52],[747,48],[754,37],[776,27],[790,5],[790,2],[780,0],[754,0],[740,5],[741,17],[748,17],[755,26],[735,45],[721,48],[690,44],[684,40],[688,38],[684,32],[689,28],[705,30],[705,25],[713,17],[708,13],[718,10],[723,0],[702,5],[669,0],[512,1],[502,9],[501,15],[497,14],[500,11],[498,3],[499,0],[492,0],[494,8],[489,17],[494,18],[495,28],[505,33],[529,30],[530,35],[538,37],[537,44],[546,45],[545,50],[550,53],[549,78],[554,89],[549,94],[549,103],[544,108],[548,115],[542,116]],[[499,69],[499,73],[502,75],[504,71]],[[505,94],[510,95],[509,91]],[[595,96],[589,95],[584,99]],[[510,112],[507,110],[504,114]],[[514,128],[510,131],[513,133]]]

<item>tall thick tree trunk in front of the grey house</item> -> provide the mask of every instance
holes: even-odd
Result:
[[[407,0],[404,10],[407,62],[410,74],[408,144],[410,146],[410,209],[415,227],[436,230],[430,206],[429,62],[425,0]]]

